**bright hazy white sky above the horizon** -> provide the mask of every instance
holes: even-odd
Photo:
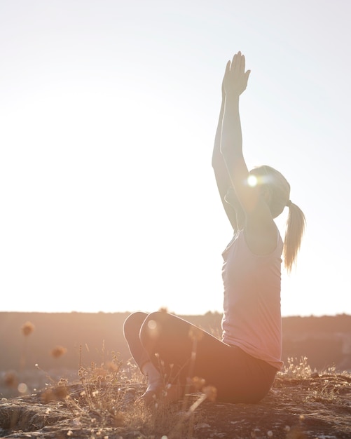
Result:
[[[307,219],[282,315],[350,314],[350,14],[345,0],[2,0],[0,311],[222,311],[232,232],[211,155],[241,50],[247,165],[280,170]]]

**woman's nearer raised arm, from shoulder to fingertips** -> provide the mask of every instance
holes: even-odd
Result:
[[[249,170],[242,154],[242,130],[239,114],[239,97],[247,87],[250,71],[245,71],[245,56],[238,52],[227,63],[223,87],[224,104],[221,154],[230,182],[245,212],[245,238],[252,251],[266,254],[273,250],[277,229],[268,207],[270,194],[266,188],[249,184]]]

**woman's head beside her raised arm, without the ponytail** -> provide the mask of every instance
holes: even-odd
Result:
[[[258,166],[250,171],[257,184],[268,192],[267,203],[273,218],[282,213],[290,198],[290,184],[279,171],[270,166]]]

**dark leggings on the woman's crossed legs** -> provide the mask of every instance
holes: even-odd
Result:
[[[217,400],[258,403],[270,390],[277,372],[238,346],[229,346],[165,312],[132,313],[125,320],[123,332],[140,368],[151,360],[167,375],[168,382],[177,378],[185,384],[187,377],[205,379],[207,385],[216,387]]]

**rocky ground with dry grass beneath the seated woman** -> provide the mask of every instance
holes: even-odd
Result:
[[[0,400],[1,438],[350,439],[350,374],[278,376],[259,404],[224,404],[191,394],[185,403],[146,410],[143,384],[61,383]],[[193,403],[200,403],[189,410]]]

